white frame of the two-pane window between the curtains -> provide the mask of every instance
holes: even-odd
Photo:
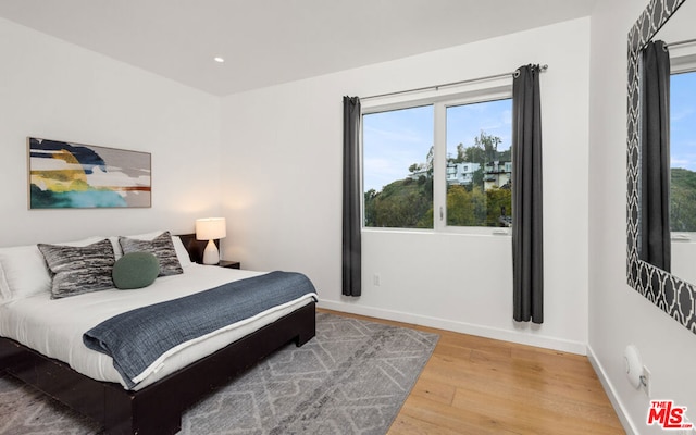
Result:
[[[408,232],[464,235],[511,236],[510,228],[489,226],[447,225],[447,108],[488,101],[512,99],[512,76],[471,82],[447,88],[403,92],[361,101],[360,123],[360,212],[361,228],[365,232]],[[364,222],[364,115],[401,109],[433,105],[433,228],[384,228],[365,226]],[[513,217],[514,219],[514,217]]]

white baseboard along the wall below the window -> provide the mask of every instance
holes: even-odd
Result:
[[[438,330],[477,335],[481,337],[512,341],[521,345],[543,347],[546,349],[560,350],[570,353],[586,355],[587,352],[587,345],[585,343],[564,340],[538,334],[507,331],[465,322],[455,322],[450,320],[430,318],[426,315],[411,314],[400,311],[384,310],[380,308],[363,307],[353,303],[336,302],[331,300],[320,300],[318,306],[319,308],[325,308],[327,310],[343,311],[351,314],[391,320],[395,322],[436,327]]]

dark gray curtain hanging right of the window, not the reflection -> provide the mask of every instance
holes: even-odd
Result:
[[[521,66],[512,83],[513,318],[544,322],[542,108],[538,65]]]

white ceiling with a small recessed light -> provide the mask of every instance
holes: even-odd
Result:
[[[0,16],[224,96],[587,16],[596,1],[0,0]]]

